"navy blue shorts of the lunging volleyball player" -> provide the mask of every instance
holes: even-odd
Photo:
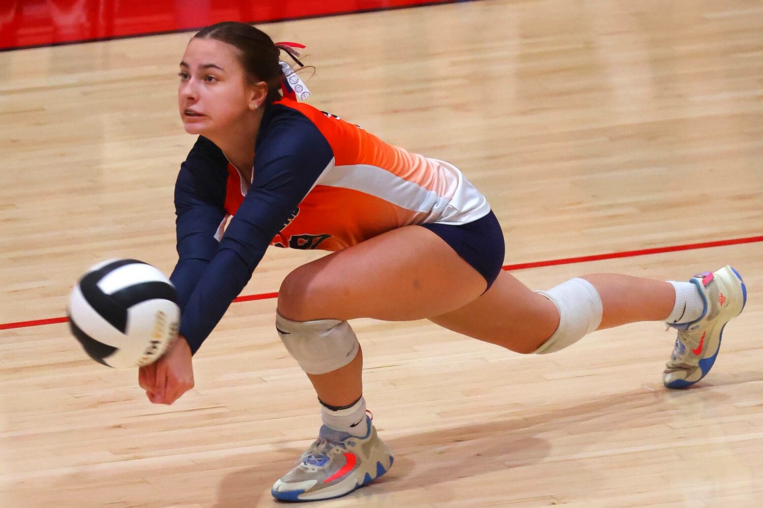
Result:
[[[498,219],[492,210],[485,217],[468,224],[451,225],[432,222],[420,224],[420,226],[443,238],[446,244],[449,244],[459,256],[485,277],[490,289],[498,273],[501,273],[506,252],[504,232],[501,231],[501,225],[498,224]]]

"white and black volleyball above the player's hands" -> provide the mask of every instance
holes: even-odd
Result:
[[[156,361],[180,324],[175,286],[160,270],[134,259],[104,261],[85,272],[67,311],[85,352],[118,369]]]

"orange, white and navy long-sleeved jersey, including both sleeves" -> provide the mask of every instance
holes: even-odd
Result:
[[[466,224],[490,212],[456,167],[291,99],[267,105],[254,152],[252,181],[243,181],[200,136],[175,184],[170,278],[194,352],[269,244],[338,251],[404,225]]]

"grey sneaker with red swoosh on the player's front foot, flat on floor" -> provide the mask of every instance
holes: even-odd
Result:
[[[369,418],[366,415],[366,418]],[[349,494],[369,484],[392,465],[389,448],[368,420],[365,437],[320,427],[318,439],[299,458],[297,467],[275,481],[271,494],[286,501],[314,501]]]

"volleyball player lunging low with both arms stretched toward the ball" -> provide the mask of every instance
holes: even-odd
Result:
[[[232,22],[188,43],[179,112],[198,140],[175,187],[180,337],[139,372],[150,401],[172,404],[192,388],[192,355],[269,244],[333,251],[298,267],[278,292],[276,331],[314,385],[324,425],[273,496],[341,496],[392,465],[366,415],[349,319],[428,318],[536,354],[595,330],[665,321],[678,331],[665,386],[686,388],[713,366],[724,325],[745,303],[731,267],[689,282],[597,273],[534,292],[501,271],[501,227],[458,168],[297,101],[282,51],[298,57]]]

